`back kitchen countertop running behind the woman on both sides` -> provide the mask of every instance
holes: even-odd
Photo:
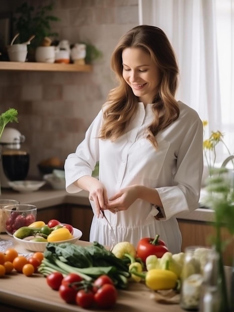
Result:
[[[60,204],[90,205],[88,192],[86,191],[70,194],[66,190],[53,190],[47,187],[47,185],[31,193],[19,193],[11,189],[1,189],[0,199],[16,199],[20,203],[33,204],[38,209]],[[213,221],[213,218],[213,210],[204,208],[198,208],[190,213],[183,212],[178,215],[178,219],[199,222],[210,222]]]

